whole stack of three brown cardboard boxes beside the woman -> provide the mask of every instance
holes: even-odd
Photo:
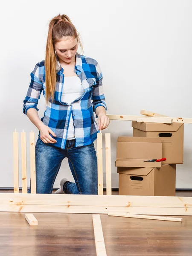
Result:
[[[183,163],[183,124],[132,122],[134,137],[118,137],[119,195],[175,196],[176,164]],[[166,157],[164,162],[144,162]]]

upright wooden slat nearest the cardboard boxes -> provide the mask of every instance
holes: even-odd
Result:
[[[111,188],[111,134],[105,134],[106,152],[106,194],[112,195]]]

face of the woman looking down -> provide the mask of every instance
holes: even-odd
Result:
[[[55,43],[55,51],[59,62],[71,63],[75,61],[76,52],[78,49],[77,38],[72,36],[64,37]]]

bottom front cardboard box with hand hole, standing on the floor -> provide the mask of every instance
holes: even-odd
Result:
[[[176,165],[161,168],[118,167],[119,195],[175,196]]]

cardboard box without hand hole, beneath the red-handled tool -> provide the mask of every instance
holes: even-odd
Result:
[[[116,149],[116,166],[122,167],[161,167],[161,162],[144,162],[144,160],[162,158],[160,138],[118,137]]]

